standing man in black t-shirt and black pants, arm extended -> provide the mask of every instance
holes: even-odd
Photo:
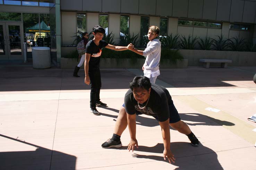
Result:
[[[93,28],[94,38],[90,40],[85,48],[85,84],[91,84],[91,94],[90,94],[90,111],[94,115],[99,115],[96,106],[105,107],[106,104],[100,101],[100,89],[101,89],[101,73],[100,73],[100,56],[102,48],[109,48],[116,51],[127,50],[127,47],[113,46],[108,44],[106,41],[102,40],[105,34],[105,29],[102,26],[96,25]]]

